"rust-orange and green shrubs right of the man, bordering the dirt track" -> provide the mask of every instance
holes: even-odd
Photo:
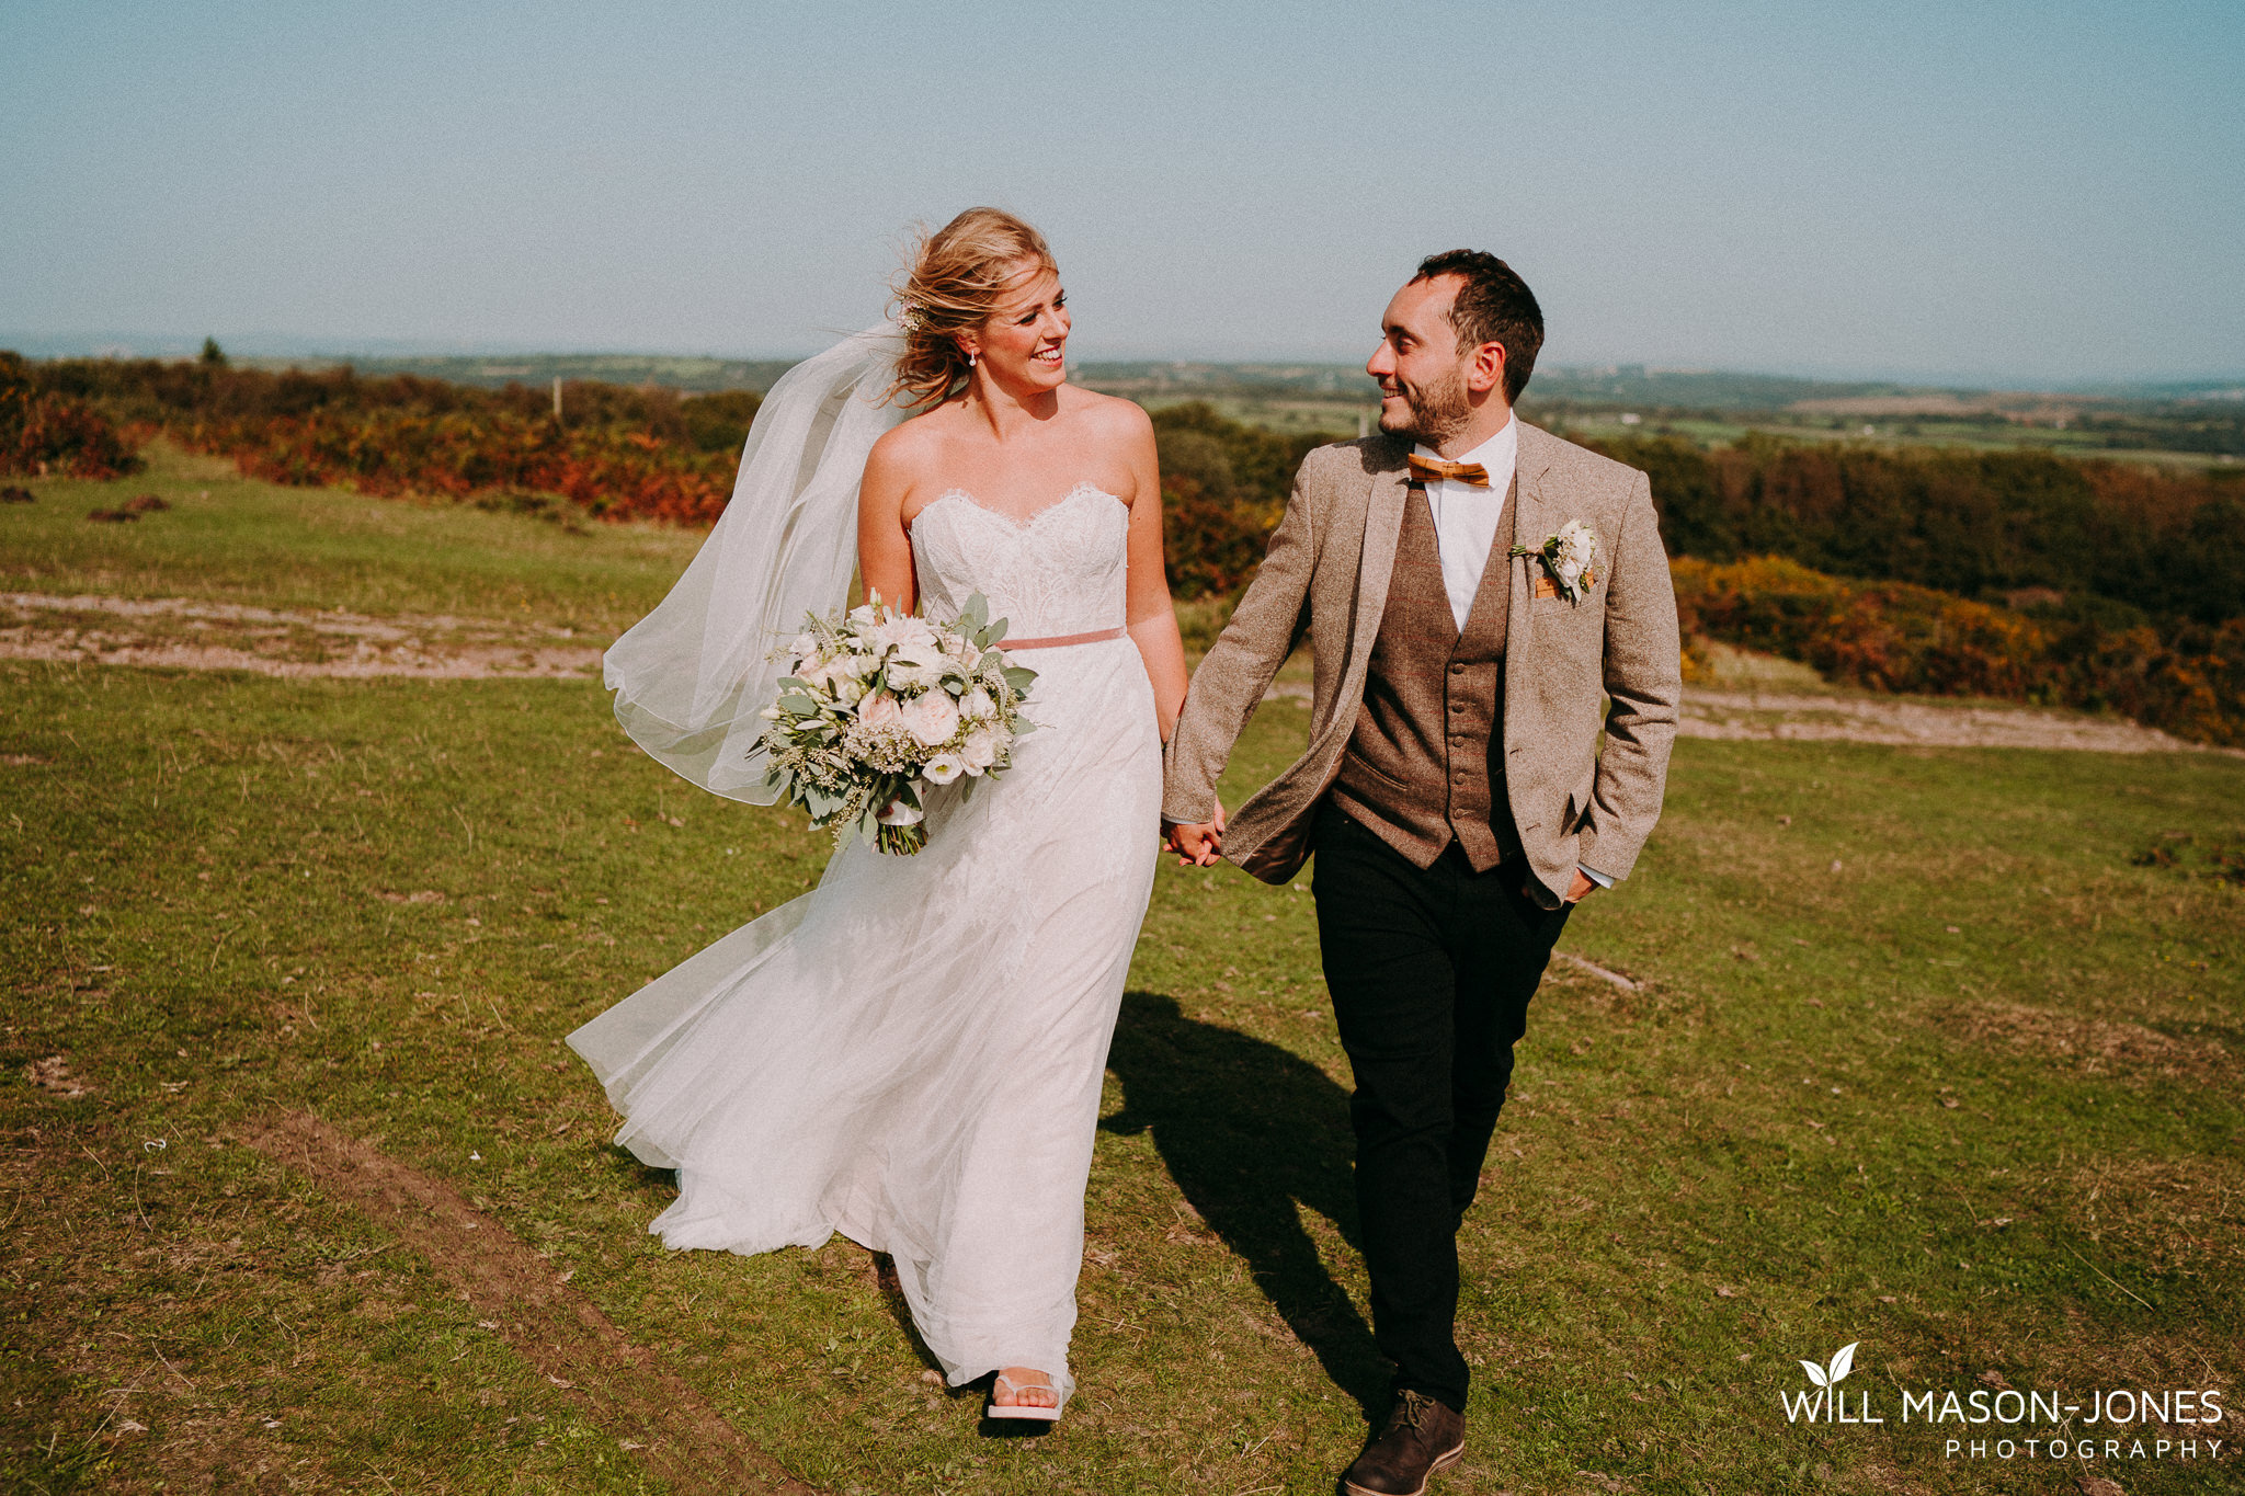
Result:
[[[1670,570],[1686,635],[1800,659],[1839,682],[2110,709],[2198,742],[2245,745],[2245,619],[2110,628],[1776,556],[1679,556]]]

